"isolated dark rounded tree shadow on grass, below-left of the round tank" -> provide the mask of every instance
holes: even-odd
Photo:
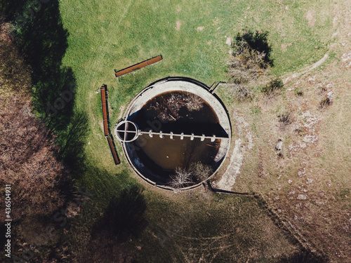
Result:
[[[128,187],[110,199],[104,217],[94,228],[95,234],[105,232],[121,243],[132,236],[137,237],[147,225],[145,209],[146,202],[140,188],[136,185]]]

